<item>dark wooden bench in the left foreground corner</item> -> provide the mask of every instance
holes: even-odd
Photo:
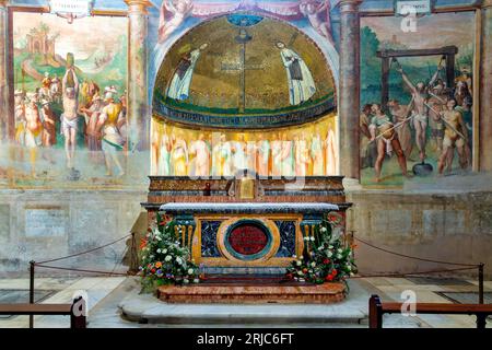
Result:
[[[80,299],[72,304],[0,304],[0,315],[61,315],[70,316],[70,328],[86,328],[86,317],[75,312]]]

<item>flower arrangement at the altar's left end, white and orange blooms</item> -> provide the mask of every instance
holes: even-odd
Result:
[[[180,245],[176,230],[181,228],[168,217],[157,215],[157,224],[149,228],[140,245],[142,290],[153,291],[164,284],[198,283],[197,265],[188,247]]]

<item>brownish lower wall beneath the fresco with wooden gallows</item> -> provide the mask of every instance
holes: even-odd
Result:
[[[492,183],[489,183],[492,184]],[[492,277],[492,188],[471,191],[359,190],[348,194],[348,230],[355,237],[405,255],[485,264]],[[462,187],[466,188],[466,187]],[[361,273],[460,268],[390,255],[356,242]],[[459,271],[476,276],[477,270]]]

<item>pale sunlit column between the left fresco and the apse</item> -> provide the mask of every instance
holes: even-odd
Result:
[[[149,148],[148,0],[125,0],[128,5],[128,125],[131,148]]]

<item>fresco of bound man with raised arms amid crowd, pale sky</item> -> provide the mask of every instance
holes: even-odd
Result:
[[[128,20],[70,24],[15,11],[12,19],[14,135],[1,158],[8,179],[14,186],[124,184]]]

